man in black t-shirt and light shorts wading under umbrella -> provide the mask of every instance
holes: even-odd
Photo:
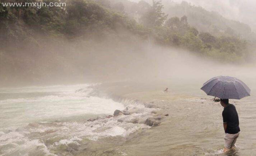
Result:
[[[220,99],[220,104],[224,107],[224,110],[222,112],[223,127],[225,131],[224,152],[227,152],[230,148],[233,148],[235,146],[235,143],[239,136],[239,119],[236,107],[233,104],[229,104],[228,99]]]

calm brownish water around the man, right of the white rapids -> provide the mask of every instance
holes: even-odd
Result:
[[[203,81],[203,80],[200,80]],[[253,79],[244,80],[253,90]],[[168,83],[165,83],[168,84]],[[224,130],[222,122],[223,107],[213,102],[199,90],[201,83],[172,85],[168,93],[163,93],[163,84],[154,89],[148,87],[136,93],[130,93],[138,85],[123,86],[126,97],[154,102],[161,110],[159,115],[168,113],[160,126],[139,130],[124,138],[106,138],[88,145],[88,155],[224,155]],[[146,85],[148,86],[148,85]],[[169,85],[170,86],[170,85]],[[159,87],[159,88],[160,88]],[[132,89],[133,88],[133,89]],[[111,88],[111,91],[116,88]],[[241,100],[230,100],[237,108],[241,134],[236,143],[236,150],[228,153],[234,156],[256,155],[256,96]],[[83,155],[80,153],[80,155]]]

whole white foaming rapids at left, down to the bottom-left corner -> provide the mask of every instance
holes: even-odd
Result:
[[[29,89],[39,92],[42,88]],[[12,94],[26,89],[13,90],[5,89],[5,92]],[[138,103],[127,105],[129,101],[124,105],[112,99],[90,96],[93,92],[90,85],[50,86],[43,87],[43,91],[42,96],[0,99],[2,155],[54,155],[51,150],[70,144],[79,146],[86,139],[97,141],[105,137],[127,137],[139,129],[149,128],[144,122],[154,110]],[[131,115],[105,118],[115,109],[123,110],[125,107],[137,111]],[[99,115],[99,118],[88,122],[86,114]],[[84,119],[73,119],[77,115]],[[138,123],[132,123],[133,119]]]

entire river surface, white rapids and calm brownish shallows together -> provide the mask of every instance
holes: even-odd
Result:
[[[203,82],[166,83],[168,93],[154,86],[144,90],[137,84],[111,86],[116,93],[127,91],[120,94],[128,99],[151,102],[160,109],[96,96],[95,87],[88,84],[1,89],[0,155],[223,155],[223,108],[199,90]],[[241,128],[234,156],[256,155],[256,85],[252,79],[246,83],[252,96],[230,100]],[[106,118],[126,107],[138,111]],[[146,118],[166,113],[169,116],[160,126],[144,124]],[[134,119],[138,122],[132,123]]]

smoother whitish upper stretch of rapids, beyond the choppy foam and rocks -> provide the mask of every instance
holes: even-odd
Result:
[[[83,90],[81,91],[81,87]],[[70,89],[71,88],[71,89]],[[41,88],[30,91],[39,92]],[[47,90],[49,89],[49,90]],[[57,90],[59,92],[57,92]],[[17,91],[17,89],[11,89]],[[24,89],[19,89],[23,91]],[[55,91],[54,93],[52,91]],[[48,92],[47,92],[48,91]],[[115,109],[124,109],[124,105],[112,99],[89,96],[93,89],[89,85],[51,86],[43,88],[43,96],[0,100],[1,125],[17,126],[22,123],[61,119],[83,114],[112,114]],[[45,95],[47,93],[48,95]],[[1,127],[1,126],[0,126]]]

